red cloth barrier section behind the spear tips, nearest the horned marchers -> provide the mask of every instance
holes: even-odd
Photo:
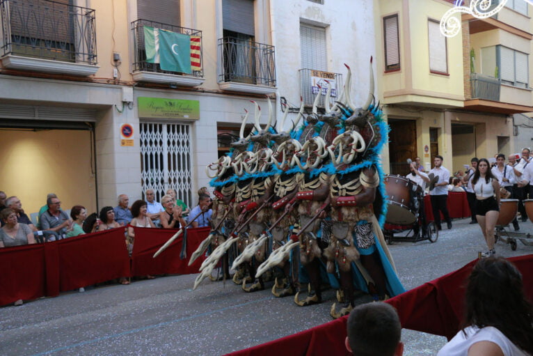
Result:
[[[177,230],[170,229],[135,229],[134,250],[132,253],[132,275],[145,276],[146,274],[190,274],[198,273],[198,268],[205,256],[200,256],[188,266],[191,254],[198,248],[200,242],[207,238],[208,227],[187,229],[186,259],[180,259],[183,235],[180,235],[170,246],[156,258],[152,258],[157,250],[174,235]]]

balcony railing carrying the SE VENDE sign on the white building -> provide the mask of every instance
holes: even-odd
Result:
[[[317,84],[320,85],[320,96],[318,102],[318,107],[324,107],[324,101],[326,100],[326,93],[328,89],[328,82],[333,84],[333,88],[331,89],[331,95],[330,95],[330,105],[333,105],[335,103],[335,100],[339,99],[339,95],[342,91],[342,74],[340,73],[330,73],[330,72],[322,72],[320,70],[312,70],[312,69],[301,69],[299,70],[300,74],[300,93],[303,98],[303,104],[306,107],[310,107],[313,105],[313,102],[315,101],[315,98],[317,94],[319,93],[319,87]]]

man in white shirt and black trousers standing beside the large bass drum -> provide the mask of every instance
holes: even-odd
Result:
[[[433,218],[438,230],[443,228],[440,226],[440,212],[443,212],[444,219],[446,220],[448,230],[452,229],[452,219],[450,219],[450,213],[447,208],[448,201],[448,182],[450,180],[450,171],[443,167],[443,156],[436,155],[433,160],[434,167],[429,171],[429,175],[438,177],[437,183],[433,186],[433,189],[429,189],[429,197],[431,198],[431,208],[433,209]]]

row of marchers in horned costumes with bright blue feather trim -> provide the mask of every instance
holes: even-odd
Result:
[[[327,274],[320,270],[325,270],[326,261],[329,273],[326,280],[334,288],[340,282],[343,293],[337,293],[337,299],[346,302],[340,311],[333,304],[331,315],[335,318],[353,308],[355,289],[381,300],[404,292],[381,231],[387,202],[379,155],[387,141],[388,125],[373,100],[372,59],[369,98],[361,108],[351,103],[351,71],[347,68],[340,101],[329,106],[330,86],[326,113],[317,114],[317,96],[312,114],[299,129],[295,130],[294,125],[291,132],[282,131],[285,116],[279,133],[271,129],[271,110],[269,123],[261,129],[260,108],[254,102],[256,133],[246,141],[243,123],[241,139],[234,146],[230,162],[222,158],[218,162],[218,176],[212,180],[219,193],[215,219],[228,211],[232,201],[232,219],[239,226],[233,231],[239,233],[238,238],[227,235],[214,249],[202,263],[194,288],[239,240],[242,254],[235,259],[234,267],[246,262],[250,277],[256,279],[250,288],[245,288],[244,280],[245,291],[262,289],[261,274],[274,266],[283,267],[288,276],[289,261],[291,265],[295,262],[294,254],[289,258],[291,249],[300,247],[299,281],[310,282],[310,295],[300,301],[296,294],[295,302],[299,305],[321,301],[320,279]],[[221,173],[221,167],[231,170]],[[296,204],[297,214],[289,211]],[[300,230],[289,238],[293,225],[299,225]],[[270,251],[268,259],[257,268]],[[333,275],[338,279],[330,278]],[[292,277],[282,284],[276,281],[273,293],[277,296],[292,293],[296,273]]]

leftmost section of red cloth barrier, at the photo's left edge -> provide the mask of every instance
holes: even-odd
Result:
[[[0,305],[45,295],[45,247],[0,249]]]

